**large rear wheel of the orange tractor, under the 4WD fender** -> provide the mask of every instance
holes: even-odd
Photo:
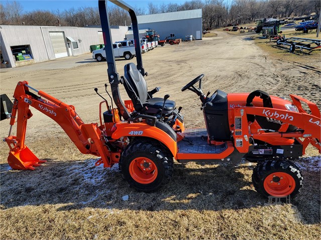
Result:
[[[159,143],[136,141],[122,153],[123,178],[134,188],[153,191],[166,185],[173,175],[173,157]]]

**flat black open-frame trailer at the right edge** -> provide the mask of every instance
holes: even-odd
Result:
[[[295,49],[300,51],[308,50],[309,53],[314,49],[320,48],[321,40],[318,39],[306,39],[306,38],[284,38],[276,41],[277,45],[290,46],[290,53],[293,53]]]

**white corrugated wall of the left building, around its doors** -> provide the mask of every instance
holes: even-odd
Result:
[[[111,29],[113,41],[124,40],[127,30],[128,27],[125,26]],[[9,62],[9,67],[16,67],[11,46],[30,45],[35,62],[44,62],[55,59],[50,32],[64,32],[65,37],[71,37],[78,41],[79,48],[74,49],[72,53],[80,55],[90,53],[90,45],[99,44],[99,31],[101,32],[101,28],[2,25],[0,26],[0,46],[3,56],[8,58],[5,60]]]

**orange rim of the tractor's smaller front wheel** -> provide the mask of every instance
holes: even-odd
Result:
[[[295,180],[288,173],[274,172],[265,178],[264,189],[268,194],[272,196],[288,196],[295,189]]]

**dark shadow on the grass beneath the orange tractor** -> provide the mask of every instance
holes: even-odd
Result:
[[[55,161],[35,171],[11,170],[1,164],[3,209],[42,204],[62,204],[60,210],[112,208],[131,210],[222,210],[264,206],[251,183],[254,166],[175,164],[170,183],[156,192],[138,192],[122,179],[118,164],[112,168],[94,166],[95,159]],[[304,172],[303,172],[304,175]],[[292,204],[305,223],[317,223],[319,173],[304,175],[303,188]],[[122,197],[129,195],[128,201]]]

